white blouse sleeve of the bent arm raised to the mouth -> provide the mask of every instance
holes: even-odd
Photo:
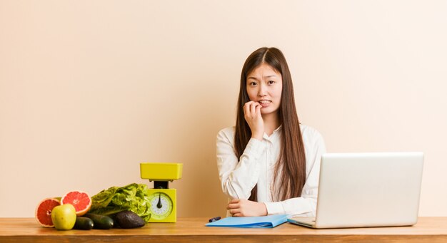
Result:
[[[216,155],[219,179],[222,190],[228,197],[248,199],[251,189],[258,182],[260,172],[258,161],[266,145],[251,138],[243,154],[238,158],[233,140],[233,133],[228,129],[221,130],[217,135]]]

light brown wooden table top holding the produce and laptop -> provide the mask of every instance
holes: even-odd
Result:
[[[308,229],[281,224],[273,229],[205,227],[207,218],[179,218],[138,229],[58,231],[34,218],[0,218],[0,242],[447,242],[447,217],[420,217],[412,227]]]

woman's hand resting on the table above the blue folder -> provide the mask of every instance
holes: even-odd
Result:
[[[267,208],[263,202],[253,202],[245,199],[233,199],[228,203],[227,210],[233,217],[266,216]]]

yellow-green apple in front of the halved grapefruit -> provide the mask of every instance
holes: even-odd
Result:
[[[56,206],[51,211],[51,220],[56,229],[73,229],[74,223],[76,223],[76,210],[71,204]]]

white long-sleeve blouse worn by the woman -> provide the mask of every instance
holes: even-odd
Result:
[[[273,173],[281,151],[281,126],[263,140],[251,138],[241,157],[234,150],[235,128],[224,128],[217,135],[217,167],[222,190],[231,199],[248,199],[257,184],[258,202],[264,202],[267,213],[315,216],[321,155],[326,152],[323,137],[314,128],[300,125],[306,152],[306,182],[301,197],[273,202]],[[276,180],[278,183],[279,180]],[[277,191],[277,190],[276,190]]]

